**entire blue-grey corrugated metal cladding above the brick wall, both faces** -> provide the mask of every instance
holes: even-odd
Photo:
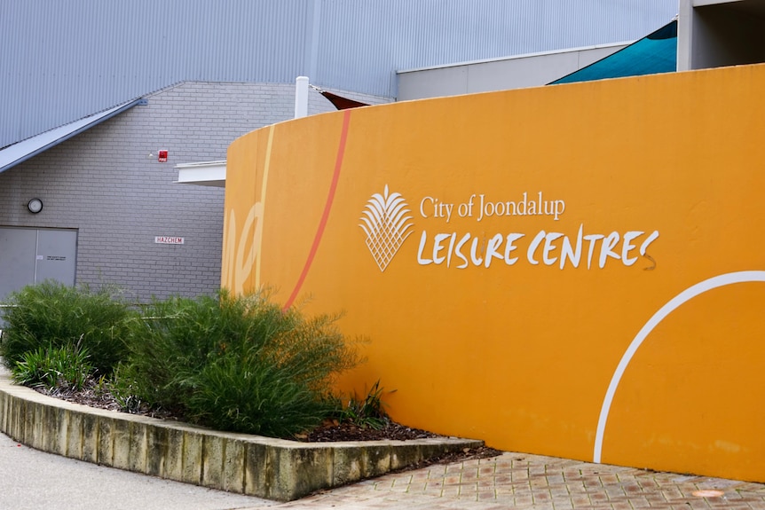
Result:
[[[187,80],[395,98],[395,71],[637,39],[676,0],[0,0],[0,147]]]

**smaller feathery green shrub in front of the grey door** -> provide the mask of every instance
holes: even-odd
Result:
[[[112,373],[127,355],[124,337],[133,317],[113,290],[105,286],[94,292],[88,286],[46,280],[10,294],[5,304],[11,306],[2,309],[0,355],[5,365],[13,368],[28,352],[41,348],[80,345],[99,373]]]

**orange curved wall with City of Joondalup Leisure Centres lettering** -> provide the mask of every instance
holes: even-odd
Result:
[[[380,379],[407,425],[765,482],[762,90],[730,67],[258,129],[222,284],[344,310],[369,341],[343,388]]]

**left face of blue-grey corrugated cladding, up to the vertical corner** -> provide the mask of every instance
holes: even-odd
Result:
[[[304,68],[306,4],[2,2],[0,146],[174,82],[291,82]]]

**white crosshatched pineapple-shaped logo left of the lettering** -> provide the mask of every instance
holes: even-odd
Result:
[[[406,200],[401,193],[388,192],[388,184],[381,195],[375,193],[367,201],[364,214],[359,224],[367,234],[367,248],[375,258],[375,263],[380,271],[385,271],[390,260],[398,252],[398,248],[404,244],[412,228],[412,216],[406,216],[409,211]]]

